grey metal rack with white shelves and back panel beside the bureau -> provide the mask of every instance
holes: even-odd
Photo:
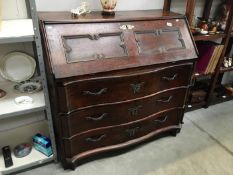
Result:
[[[2,5],[4,6],[4,4]],[[36,72],[32,79],[40,80],[43,87],[37,93],[19,93],[14,90],[15,82],[0,78],[0,89],[7,93],[6,96],[0,98],[0,147],[9,145],[13,152],[16,145],[25,142],[32,143],[32,137],[37,133],[41,133],[51,139],[53,155],[47,157],[34,148],[24,158],[16,158],[12,153],[14,165],[5,168],[3,155],[0,151],[0,174],[14,173],[56,160],[53,123],[35,0],[25,0],[24,5],[27,11],[27,19],[3,19],[1,21],[0,60],[12,51],[20,51],[31,55],[36,61]],[[5,4],[2,10],[10,10],[10,8],[12,6],[6,7]],[[26,106],[17,106],[15,98],[25,95],[31,97],[33,103]]]

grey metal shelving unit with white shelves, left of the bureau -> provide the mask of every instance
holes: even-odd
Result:
[[[43,90],[34,93],[34,94],[24,94],[19,93],[16,90],[13,89],[14,85],[16,83],[9,82],[9,81],[0,81],[0,88],[5,90],[7,92],[7,95],[0,99],[0,122],[1,120],[9,120],[12,119],[17,121],[17,118],[21,117],[22,115],[27,114],[33,114],[35,112],[41,111],[42,114],[44,113],[46,120],[44,121],[46,123],[45,127],[48,127],[49,130],[49,137],[52,141],[52,147],[53,147],[53,156],[47,157],[40,153],[39,151],[35,150],[33,148],[32,152],[21,159],[16,158],[15,156],[12,156],[14,165],[9,168],[5,168],[4,162],[3,162],[3,156],[0,151],[0,174],[9,174],[9,173],[15,173],[17,171],[21,171],[33,166],[38,166],[43,163],[47,163],[49,161],[57,159],[56,154],[56,145],[55,145],[55,138],[54,138],[54,130],[53,130],[53,122],[51,117],[51,111],[50,111],[50,102],[49,102],[49,94],[47,89],[47,80],[46,80],[46,74],[44,69],[44,60],[43,60],[43,52],[42,52],[42,46],[41,46],[41,40],[40,40],[40,32],[39,32],[39,25],[38,25],[38,17],[36,12],[36,4],[35,0],[25,0],[26,7],[28,8],[28,19],[15,19],[15,20],[3,20],[2,21],[2,30],[0,32],[0,47],[4,44],[14,44],[14,43],[28,43],[30,42],[34,49],[34,55],[35,59],[37,60],[37,72],[39,73],[39,78],[42,82]],[[1,58],[0,58],[1,59]],[[33,98],[33,103],[27,106],[18,106],[15,104],[14,99],[18,96],[27,95]],[[41,121],[40,121],[41,122]],[[39,124],[39,123],[38,123]],[[34,126],[34,125],[33,125]],[[27,130],[25,132],[25,128],[27,128],[28,125],[21,126],[21,128],[17,128],[14,132],[11,131],[9,138],[14,137],[14,135],[18,135],[20,137],[20,134],[27,134],[30,135],[30,139],[32,141],[32,136],[37,133],[37,129],[35,128],[36,125],[32,128],[29,128],[31,130]],[[20,131],[24,131],[20,133]],[[38,130],[41,131],[41,130]],[[0,137],[5,137],[4,134],[0,133]],[[12,139],[11,138],[11,139]],[[13,150],[13,146],[16,146],[17,144],[20,144],[18,142],[19,140],[16,139],[16,143],[12,144],[12,140],[9,141],[8,139],[4,139],[4,143],[0,143],[1,146],[10,145],[11,149]],[[1,142],[1,138],[0,138]],[[14,142],[14,141],[13,141]],[[23,140],[22,140],[23,143]]]

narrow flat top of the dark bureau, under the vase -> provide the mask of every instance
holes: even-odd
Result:
[[[49,23],[82,23],[82,22],[119,22],[135,20],[171,19],[184,18],[184,15],[174,12],[164,12],[163,10],[137,10],[137,11],[117,11],[115,16],[103,16],[101,12],[91,12],[85,16],[72,18],[70,12],[39,12],[40,20]]]

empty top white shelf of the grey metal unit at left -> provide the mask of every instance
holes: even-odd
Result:
[[[3,20],[0,30],[0,44],[34,41],[31,19]]]

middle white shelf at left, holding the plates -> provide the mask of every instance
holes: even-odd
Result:
[[[20,93],[14,90],[15,84],[9,81],[0,82],[0,88],[7,92],[6,96],[0,99],[0,119],[45,110],[43,91],[33,94]],[[19,96],[29,96],[33,99],[33,103],[17,105],[14,100]]]

